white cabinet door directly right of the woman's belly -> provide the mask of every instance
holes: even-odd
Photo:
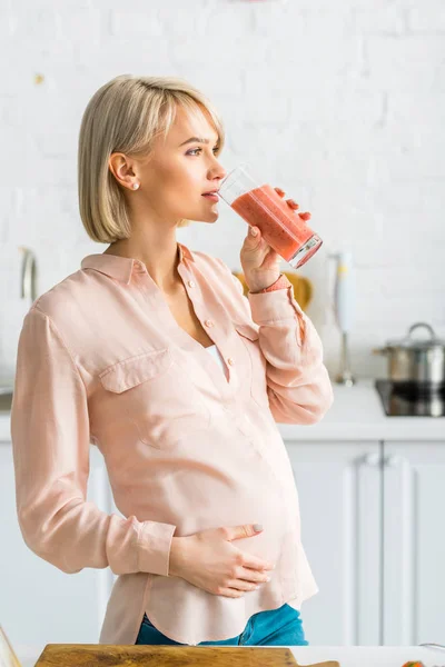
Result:
[[[378,442],[290,442],[301,539],[319,591],[303,604],[314,645],[380,644]]]

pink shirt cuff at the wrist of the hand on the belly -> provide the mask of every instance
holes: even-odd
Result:
[[[175,530],[171,524],[144,521],[138,538],[139,571],[168,577]]]

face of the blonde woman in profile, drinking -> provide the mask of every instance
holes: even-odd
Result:
[[[149,156],[137,160],[139,203],[161,219],[218,219],[218,201],[204,193],[218,190],[226,172],[216,157],[218,135],[207,116],[178,107],[166,139],[157,137]]]

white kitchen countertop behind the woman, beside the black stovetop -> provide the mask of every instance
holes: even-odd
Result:
[[[374,380],[354,387],[334,384],[334,405],[324,419],[310,426],[279,424],[285,440],[443,440],[445,417],[387,417]],[[10,416],[0,414],[0,442],[10,441]]]

